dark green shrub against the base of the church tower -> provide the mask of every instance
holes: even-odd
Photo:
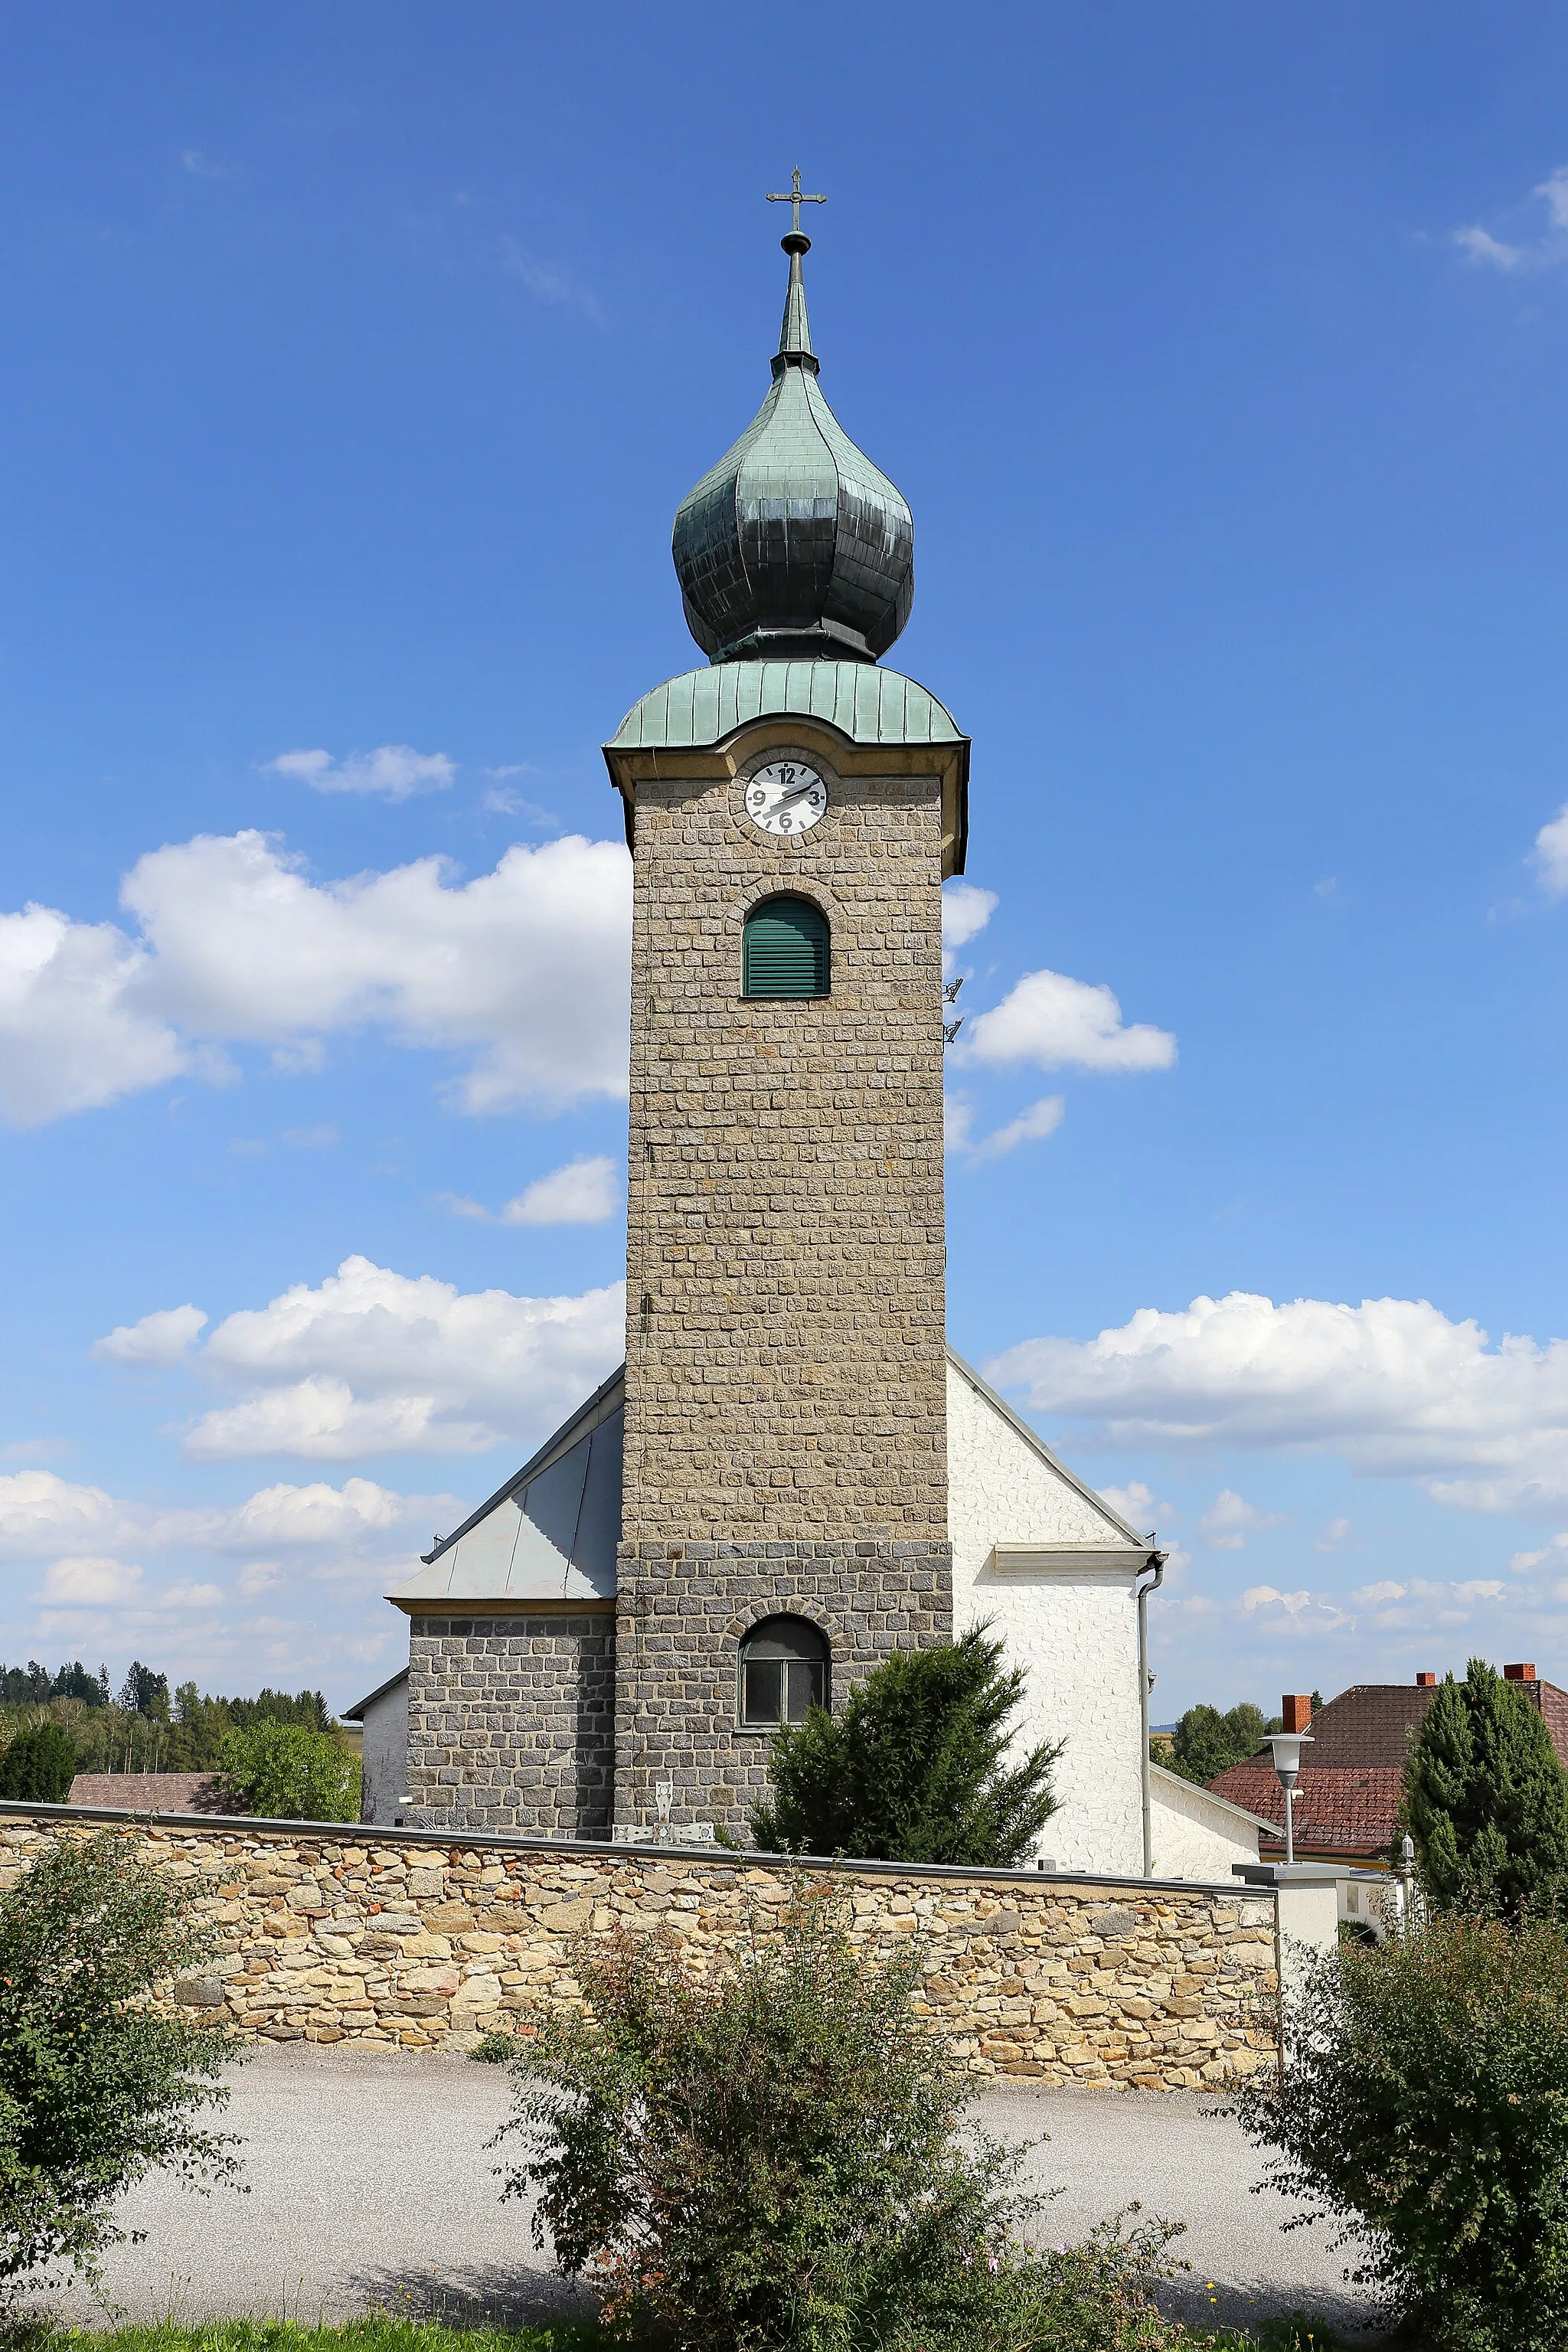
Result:
[[[773,1733],[773,1795],[752,1813],[755,1844],[983,1870],[1023,1860],[1056,1811],[1051,1766],[1063,1752],[1060,1740],[1041,1743],[1006,1769],[1023,1689],[1023,1668],[1004,1672],[985,1625],[898,1651],[839,1715],[811,1708]]]

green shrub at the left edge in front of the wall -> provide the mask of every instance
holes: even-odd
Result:
[[[195,2124],[228,2098],[228,2032],[146,2006],[207,1952],[179,1889],[113,1835],[49,1849],[0,1896],[0,2277],[96,2277],[127,2237],[113,2199],[155,2166],[235,2176],[233,2143]]]

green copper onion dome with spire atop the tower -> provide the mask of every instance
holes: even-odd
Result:
[[[792,228],[783,249],[769,397],[675,517],[686,628],[710,661],[877,661],[914,602],[914,517],[816,381],[799,270],[811,238]]]

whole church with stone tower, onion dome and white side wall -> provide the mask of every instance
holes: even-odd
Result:
[[[348,1710],[367,1818],[743,1832],[783,1722],[990,1623],[1020,1738],[1065,1738],[1053,1853],[1147,1870],[1161,1555],[945,1345],[969,739],[882,668],[910,508],[823,400],[799,209],[783,247],[769,395],[675,517],[708,666],[604,746],[635,870],[625,1367],[388,1595],[409,1665]]]

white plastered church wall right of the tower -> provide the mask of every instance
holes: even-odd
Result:
[[[1143,1872],[1138,1569],[1131,1529],[1051,1458],[966,1364],[947,1359],[947,1531],[954,1632],[990,1618],[1027,1675],[1018,1750],[1065,1740],[1039,1849],[1065,1870]],[[999,1566],[997,1548],[1084,1559]]]

